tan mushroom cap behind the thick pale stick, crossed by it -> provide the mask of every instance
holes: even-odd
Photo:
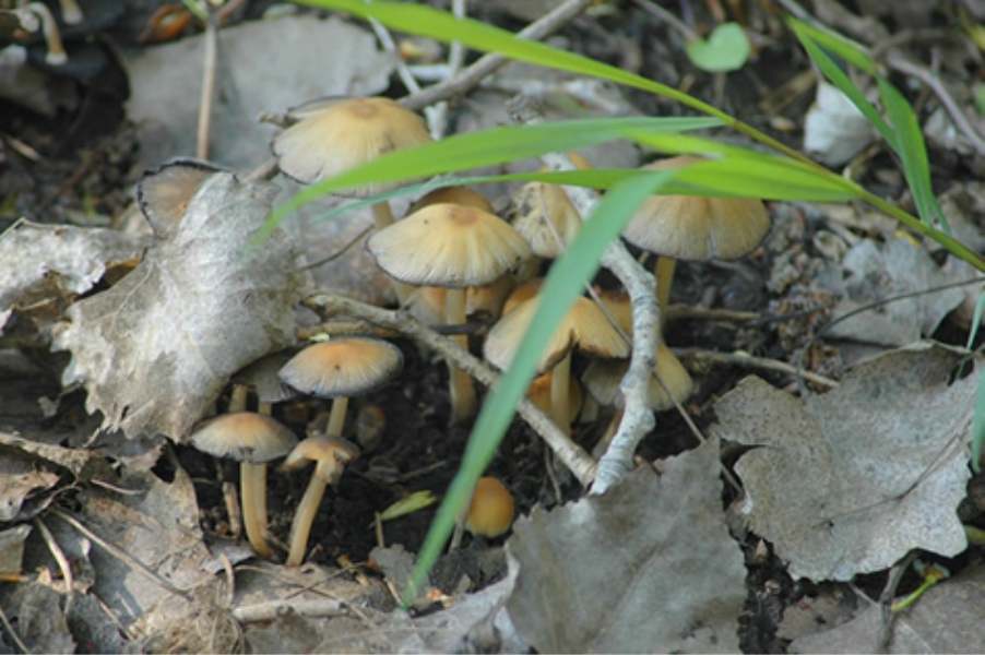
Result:
[[[629,369],[626,360],[595,360],[585,369],[582,376],[585,389],[592,394],[600,405],[621,408],[624,406],[622,393],[619,391],[619,382]],[[648,390],[646,404],[654,412],[662,412],[674,406],[674,401],[685,402],[695,390],[695,382],[690,373],[684,368],[680,359],[663,343],[656,346],[656,371],[650,376],[650,389]],[[663,380],[661,384],[660,380]],[[664,389],[666,384],[666,389]]]

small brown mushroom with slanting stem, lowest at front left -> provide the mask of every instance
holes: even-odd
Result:
[[[324,497],[325,488],[337,483],[345,465],[358,456],[359,449],[353,443],[340,437],[322,434],[305,439],[284,460],[281,471],[296,471],[315,462],[311,480],[308,483],[305,496],[294,515],[294,523],[290,525],[288,567],[299,567],[305,561],[311,524],[315,522],[315,514]]]

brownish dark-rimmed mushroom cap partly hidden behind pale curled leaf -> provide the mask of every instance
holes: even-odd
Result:
[[[137,184],[137,204],[154,234],[171,235],[202,182],[223,170],[207,162],[174,159],[144,172]]]

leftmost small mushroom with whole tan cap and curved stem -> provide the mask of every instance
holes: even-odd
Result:
[[[265,559],[273,557],[258,515],[258,489],[265,489],[266,485],[260,480],[260,475],[265,477],[265,473],[258,471],[257,465],[286,455],[297,443],[294,432],[270,416],[234,412],[202,424],[191,436],[191,442],[202,452],[240,463],[239,486],[247,538],[257,555]]]

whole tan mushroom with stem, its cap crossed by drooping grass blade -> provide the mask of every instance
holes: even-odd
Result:
[[[494,366],[500,369],[510,366],[539,301],[539,296],[536,296],[521,302],[489,331],[483,353]],[[574,305],[555,327],[547,348],[537,362],[538,372],[550,370],[554,373],[550,386],[550,414],[566,433],[571,431],[568,421],[571,415],[568,396],[571,349],[574,347],[596,357],[629,356],[629,345],[602,310],[583,296],[575,299]]]

